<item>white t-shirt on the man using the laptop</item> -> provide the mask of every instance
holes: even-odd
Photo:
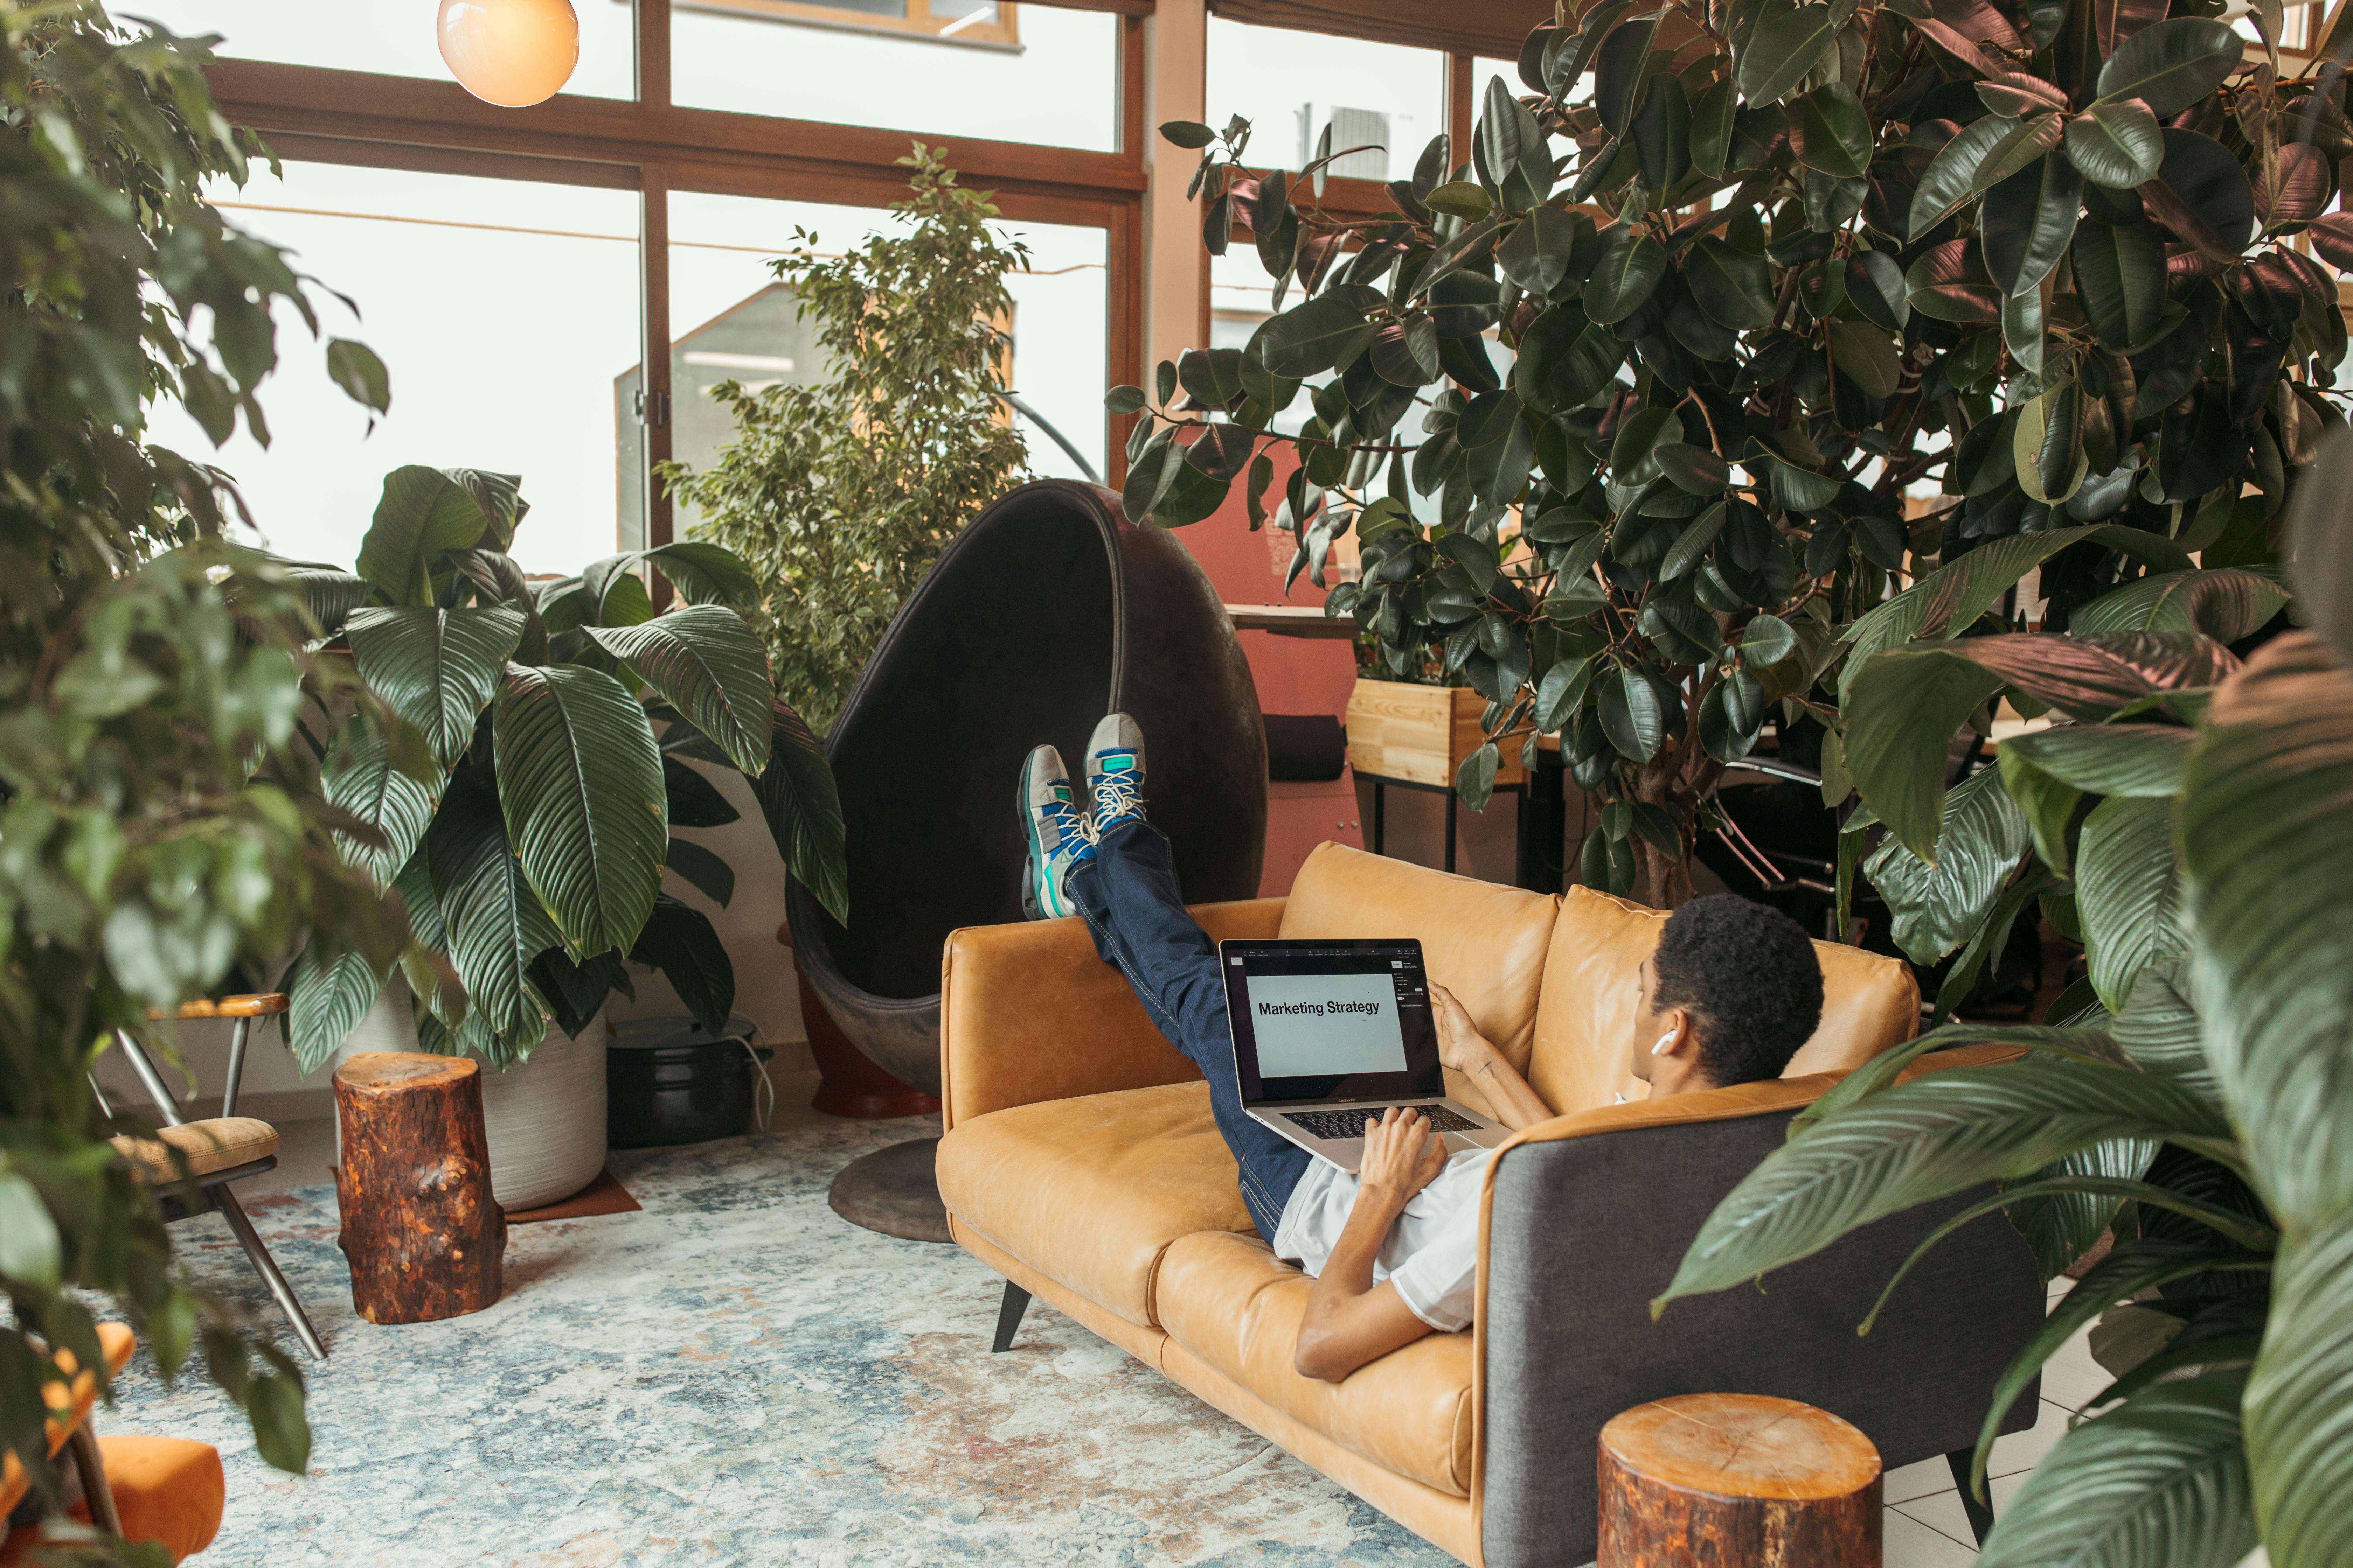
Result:
[[[1407,1199],[1372,1262],[1372,1284],[1398,1286],[1398,1300],[1440,1333],[1471,1326],[1478,1293],[1478,1190],[1494,1150],[1464,1150],[1447,1159],[1428,1187]],[[1339,1232],[1355,1206],[1358,1178],[1311,1159],[1275,1225],[1275,1258],[1297,1258],[1322,1274]]]

